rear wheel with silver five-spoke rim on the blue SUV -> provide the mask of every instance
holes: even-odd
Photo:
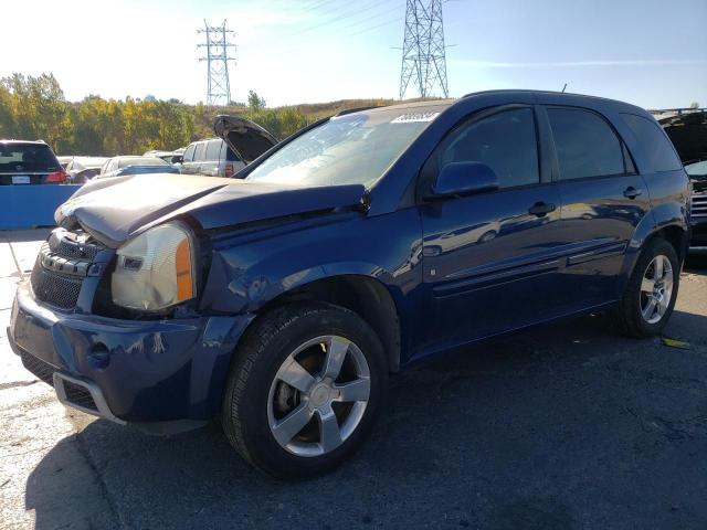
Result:
[[[647,242],[616,308],[621,331],[648,337],[667,325],[680,280],[680,262],[673,245],[662,237]]]

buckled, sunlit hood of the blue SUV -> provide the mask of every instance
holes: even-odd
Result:
[[[302,187],[187,174],[126,176],[94,180],[59,206],[59,225],[80,224],[117,247],[140,230],[188,215],[204,230],[287,215],[358,206],[361,184]]]

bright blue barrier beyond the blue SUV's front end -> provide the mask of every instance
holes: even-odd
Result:
[[[54,226],[54,210],[81,184],[0,186],[0,230]]]

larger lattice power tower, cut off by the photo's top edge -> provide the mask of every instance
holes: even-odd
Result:
[[[401,99],[410,80],[413,80],[420,97],[430,97],[435,89],[449,97],[442,0],[408,0],[400,74]]]

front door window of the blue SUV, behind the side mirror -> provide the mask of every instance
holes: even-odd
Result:
[[[537,184],[538,147],[530,108],[515,108],[460,126],[441,144],[437,168],[451,162],[483,162],[500,188]]]

